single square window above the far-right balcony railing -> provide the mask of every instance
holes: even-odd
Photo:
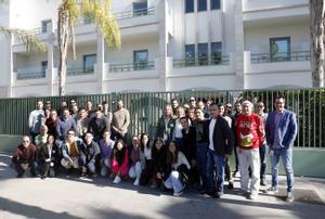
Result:
[[[283,62],[290,60],[290,38],[271,38],[270,39],[270,61]]]

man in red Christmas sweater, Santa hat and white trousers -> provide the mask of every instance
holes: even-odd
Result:
[[[244,101],[242,103],[243,114],[236,119],[237,130],[237,154],[240,168],[240,190],[244,195],[248,195],[249,171],[251,170],[249,199],[255,199],[259,195],[260,186],[260,155],[259,147],[264,141],[263,120],[252,113],[252,103]]]

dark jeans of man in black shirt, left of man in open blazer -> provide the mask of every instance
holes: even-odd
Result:
[[[196,144],[196,160],[199,175],[202,178],[202,189],[208,190],[208,180],[207,180],[207,153],[208,153],[209,143],[197,143]]]

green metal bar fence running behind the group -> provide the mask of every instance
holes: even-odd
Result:
[[[109,93],[93,95],[42,96],[0,100],[0,134],[28,133],[27,120],[38,100],[51,101],[53,108],[58,108],[60,102],[75,100],[83,107],[88,100],[94,105],[107,101],[110,111],[116,108],[116,101],[122,100],[130,111],[131,125],[129,133],[148,132],[154,136],[158,117],[162,107],[177,99],[186,103],[190,96],[216,103],[234,103],[239,100],[263,101],[268,112],[272,111],[273,100],[282,94],[286,98],[286,107],[297,114],[299,126],[297,147],[325,147],[325,89],[300,90],[244,90],[244,91],[179,91],[179,92],[143,92],[143,93]]]

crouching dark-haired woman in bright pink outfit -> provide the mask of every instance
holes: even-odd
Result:
[[[113,183],[117,184],[129,171],[129,152],[122,139],[115,142],[110,160],[112,176],[115,176]]]

